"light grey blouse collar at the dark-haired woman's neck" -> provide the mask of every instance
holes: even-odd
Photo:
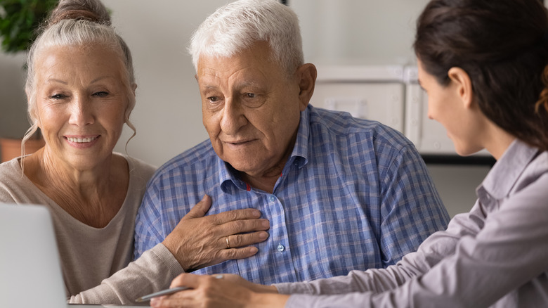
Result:
[[[511,188],[537,153],[537,148],[518,139],[514,140],[478,187],[478,195],[483,190],[497,199],[509,195]]]

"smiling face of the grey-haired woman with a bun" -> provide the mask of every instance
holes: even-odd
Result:
[[[119,56],[103,46],[51,47],[35,69],[44,155],[75,169],[110,158],[128,105]]]

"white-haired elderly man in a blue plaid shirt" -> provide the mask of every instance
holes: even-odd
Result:
[[[136,257],[204,195],[213,202],[209,214],[260,210],[270,232],[253,257],[195,272],[256,283],[387,267],[445,228],[448,214],[410,141],[378,122],[309,104],[316,69],[304,64],[290,8],[230,3],[200,25],[189,50],[209,141],[152,177],[137,217]],[[230,251],[239,240],[218,237],[216,245]]]

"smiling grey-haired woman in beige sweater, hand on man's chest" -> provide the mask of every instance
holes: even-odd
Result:
[[[155,168],[112,153],[124,123],[135,131],[136,83],[131,53],[100,1],[60,1],[27,64],[27,136],[39,127],[46,146],[0,165],[0,201],[51,210],[70,302],[124,304],[183,271],[256,253],[244,246],[263,240],[268,221],[252,209],[204,217],[206,196],[130,264],[136,212]],[[236,238],[227,250],[229,235]]]

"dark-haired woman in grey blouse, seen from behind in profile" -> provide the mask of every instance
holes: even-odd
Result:
[[[460,155],[485,148],[497,159],[469,213],[386,269],[274,286],[183,274],[173,285],[192,290],[152,306],[548,307],[546,8],[431,0],[415,53],[429,117]]]

